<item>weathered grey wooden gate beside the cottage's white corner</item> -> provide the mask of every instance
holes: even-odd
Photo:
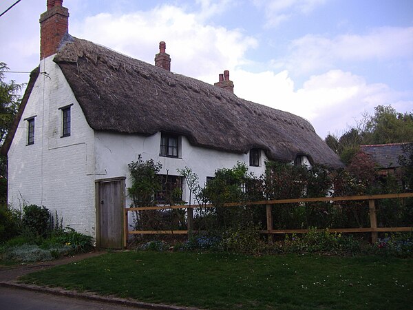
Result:
[[[96,180],[96,245],[99,248],[123,247],[125,179]]]

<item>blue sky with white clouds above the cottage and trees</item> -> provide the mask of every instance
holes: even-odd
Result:
[[[0,13],[15,0],[1,0]],[[377,105],[413,112],[412,0],[65,0],[69,32],[206,83],[229,70],[234,93],[297,114],[321,138],[357,126]],[[0,17],[0,62],[39,64],[46,0]],[[6,74],[27,83],[28,74]]]

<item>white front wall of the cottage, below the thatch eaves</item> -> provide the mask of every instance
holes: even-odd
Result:
[[[198,175],[200,185],[204,186],[207,176],[214,176],[216,169],[232,168],[237,161],[249,165],[249,154],[234,154],[196,147],[191,145],[184,136],[182,136],[180,147],[181,158],[159,156],[160,135],[160,132],[147,137],[96,132],[94,142],[96,172],[102,174],[101,178],[126,176],[126,187],[130,187],[131,179],[128,164],[132,161],[137,161],[138,154],[142,154],[142,160],[147,161],[152,158],[156,163],[162,164],[160,174],[179,175],[176,169],[191,168]],[[248,167],[249,171],[257,176],[260,176],[265,171],[264,161],[266,156],[264,152],[261,155],[260,167]],[[189,201],[189,190],[185,183],[182,198],[185,201]],[[194,203],[193,197],[192,203]],[[129,196],[127,196],[126,205],[127,207],[131,206]],[[129,218],[129,223],[131,223],[131,218]]]

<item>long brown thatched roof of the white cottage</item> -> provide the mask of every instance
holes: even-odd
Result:
[[[66,40],[54,57],[90,127],[149,136],[182,134],[193,145],[268,158],[342,165],[308,121],[240,99],[196,79],[132,59],[82,39]]]

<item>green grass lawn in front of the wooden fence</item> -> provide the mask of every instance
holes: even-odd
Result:
[[[23,282],[204,309],[412,309],[413,260],[125,251]]]

